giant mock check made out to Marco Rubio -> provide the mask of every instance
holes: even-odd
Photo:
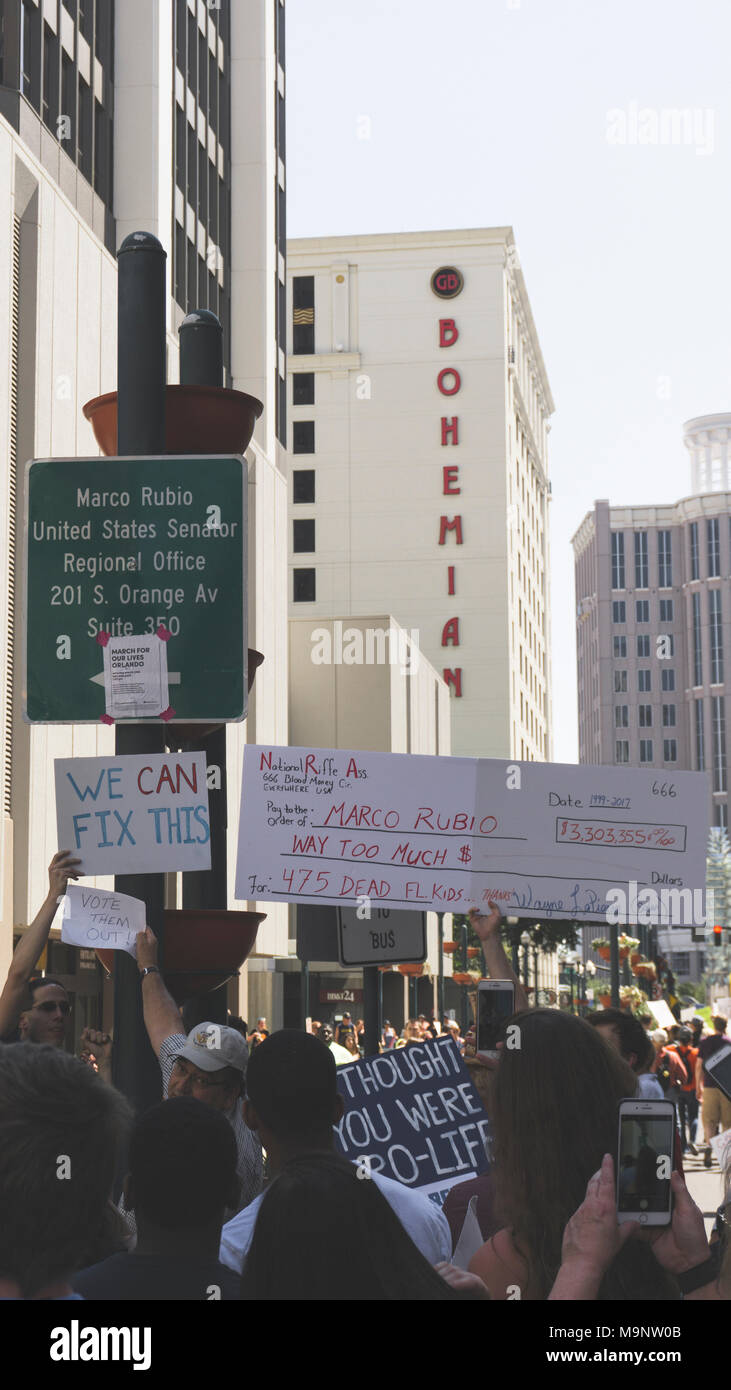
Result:
[[[677,924],[706,838],[703,773],[249,745],[236,897]]]

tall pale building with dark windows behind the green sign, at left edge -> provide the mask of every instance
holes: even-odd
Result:
[[[97,452],[82,404],[117,385],[115,252],[138,229],[168,253],[168,379],[178,379],[185,314],[211,309],[224,324],[225,384],[264,402],[247,459],[249,641],[265,662],[247,721],[228,739],[231,903],[243,744],[288,739],[285,7],[4,0],[0,25],[4,977],[13,927],[43,899],[57,848],[53,759],[113,746],[103,727],[29,728],[21,719],[22,470],[32,457]],[[168,906],[174,894],[171,884]],[[286,906],[264,910],[257,949],[286,955]],[[51,951],[79,998],[76,1026],[93,1023],[93,959]],[[245,977],[240,987],[246,1013]]]

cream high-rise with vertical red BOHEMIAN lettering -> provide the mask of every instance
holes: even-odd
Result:
[[[553,399],[510,228],[289,243],[292,617],[391,613],[452,752],[550,758]]]

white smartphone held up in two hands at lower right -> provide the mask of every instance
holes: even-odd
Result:
[[[673,1101],[620,1101],[617,1220],[670,1226],[675,1106]]]

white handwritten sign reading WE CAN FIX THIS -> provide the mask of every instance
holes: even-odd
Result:
[[[204,753],[56,759],[58,844],[82,874],[210,869]]]

